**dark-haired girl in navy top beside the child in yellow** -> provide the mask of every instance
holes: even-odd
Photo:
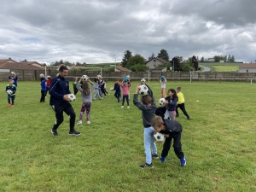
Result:
[[[164,102],[164,104],[166,105],[166,114],[164,119],[168,119],[170,117],[172,120],[175,120],[177,105],[176,90],[168,90],[168,96],[166,97],[166,102]]]

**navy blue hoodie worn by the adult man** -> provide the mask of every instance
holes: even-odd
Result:
[[[70,93],[68,80],[61,78],[60,75],[55,77],[55,79],[52,79],[49,86],[49,104],[58,105],[67,102],[63,99],[63,96]]]

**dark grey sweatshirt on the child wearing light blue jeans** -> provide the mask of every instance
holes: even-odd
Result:
[[[137,106],[140,110],[143,111],[142,117],[143,117],[143,126],[145,128],[148,128],[151,126],[151,120],[154,118],[154,113],[156,107],[154,105],[144,105],[143,103],[138,101],[138,95],[134,94],[133,96],[133,104]]]

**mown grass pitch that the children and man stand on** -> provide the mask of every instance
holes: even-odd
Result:
[[[170,150],[165,163],[145,162],[141,112],[132,104],[120,108],[113,92],[91,106],[90,125],[76,125],[68,135],[68,117],[58,137],[50,129],[55,115],[40,103],[40,82],[18,82],[15,108],[9,108],[1,82],[0,191],[256,191],[256,84],[169,81],[182,86],[186,109],[181,167]],[[160,98],[160,84],[150,81]],[[108,90],[113,82],[108,82]],[[72,89],[73,91],[73,89]],[[79,119],[80,95],[73,102]],[[162,143],[157,143],[158,154]]]

